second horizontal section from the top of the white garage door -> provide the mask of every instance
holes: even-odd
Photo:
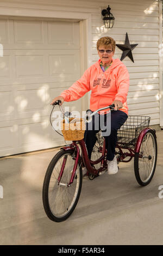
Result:
[[[77,50],[4,50],[4,57],[0,58],[0,78],[9,79],[12,76],[14,84],[31,83],[30,77],[37,77],[37,82],[52,82],[49,76],[58,75],[62,81],[70,80],[71,75],[80,76],[80,54]],[[68,77],[67,77],[68,76]],[[63,79],[64,78],[64,79]],[[39,81],[40,80],[40,81]],[[43,81],[43,82],[44,82]],[[1,80],[3,84],[5,81]],[[9,80],[6,81],[9,84]]]

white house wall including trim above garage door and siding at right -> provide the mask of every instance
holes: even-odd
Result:
[[[117,44],[124,44],[128,33],[130,44],[139,44],[133,50],[134,63],[126,57],[123,63],[130,74],[128,93],[129,114],[150,115],[151,124],[163,125],[162,117],[162,66],[159,57],[160,5],[153,0],[110,0],[111,13],[115,17],[114,27],[105,29],[101,10],[108,7],[108,1],[97,0],[34,0],[1,1],[1,15],[44,17],[52,13],[74,13],[79,20],[82,14],[91,15],[91,27],[87,32],[90,36],[91,57],[87,66],[98,59],[96,41],[101,36],[111,36]],[[59,16],[58,16],[59,17]],[[77,19],[77,18],[76,18]],[[83,18],[85,19],[85,18]],[[89,53],[90,54],[90,53]],[[121,58],[122,51],[116,47],[115,58]],[[91,59],[90,59],[91,58]],[[85,66],[86,67],[86,66]]]

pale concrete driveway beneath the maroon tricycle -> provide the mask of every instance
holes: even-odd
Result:
[[[43,178],[57,151],[1,159],[0,244],[162,245],[163,131],[156,135],[158,162],[148,186],[137,184],[133,160],[115,175],[84,178],[77,208],[61,223],[49,220],[42,205]]]

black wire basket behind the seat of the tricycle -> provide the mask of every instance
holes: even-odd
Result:
[[[149,126],[151,117],[140,115],[129,115],[126,122],[118,130],[117,144],[125,148],[134,148],[140,132]],[[97,141],[103,145],[104,138],[101,131],[96,133]]]

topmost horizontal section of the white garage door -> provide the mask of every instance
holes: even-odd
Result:
[[[78,49],[79,23],[0,19],[5,49]]]

